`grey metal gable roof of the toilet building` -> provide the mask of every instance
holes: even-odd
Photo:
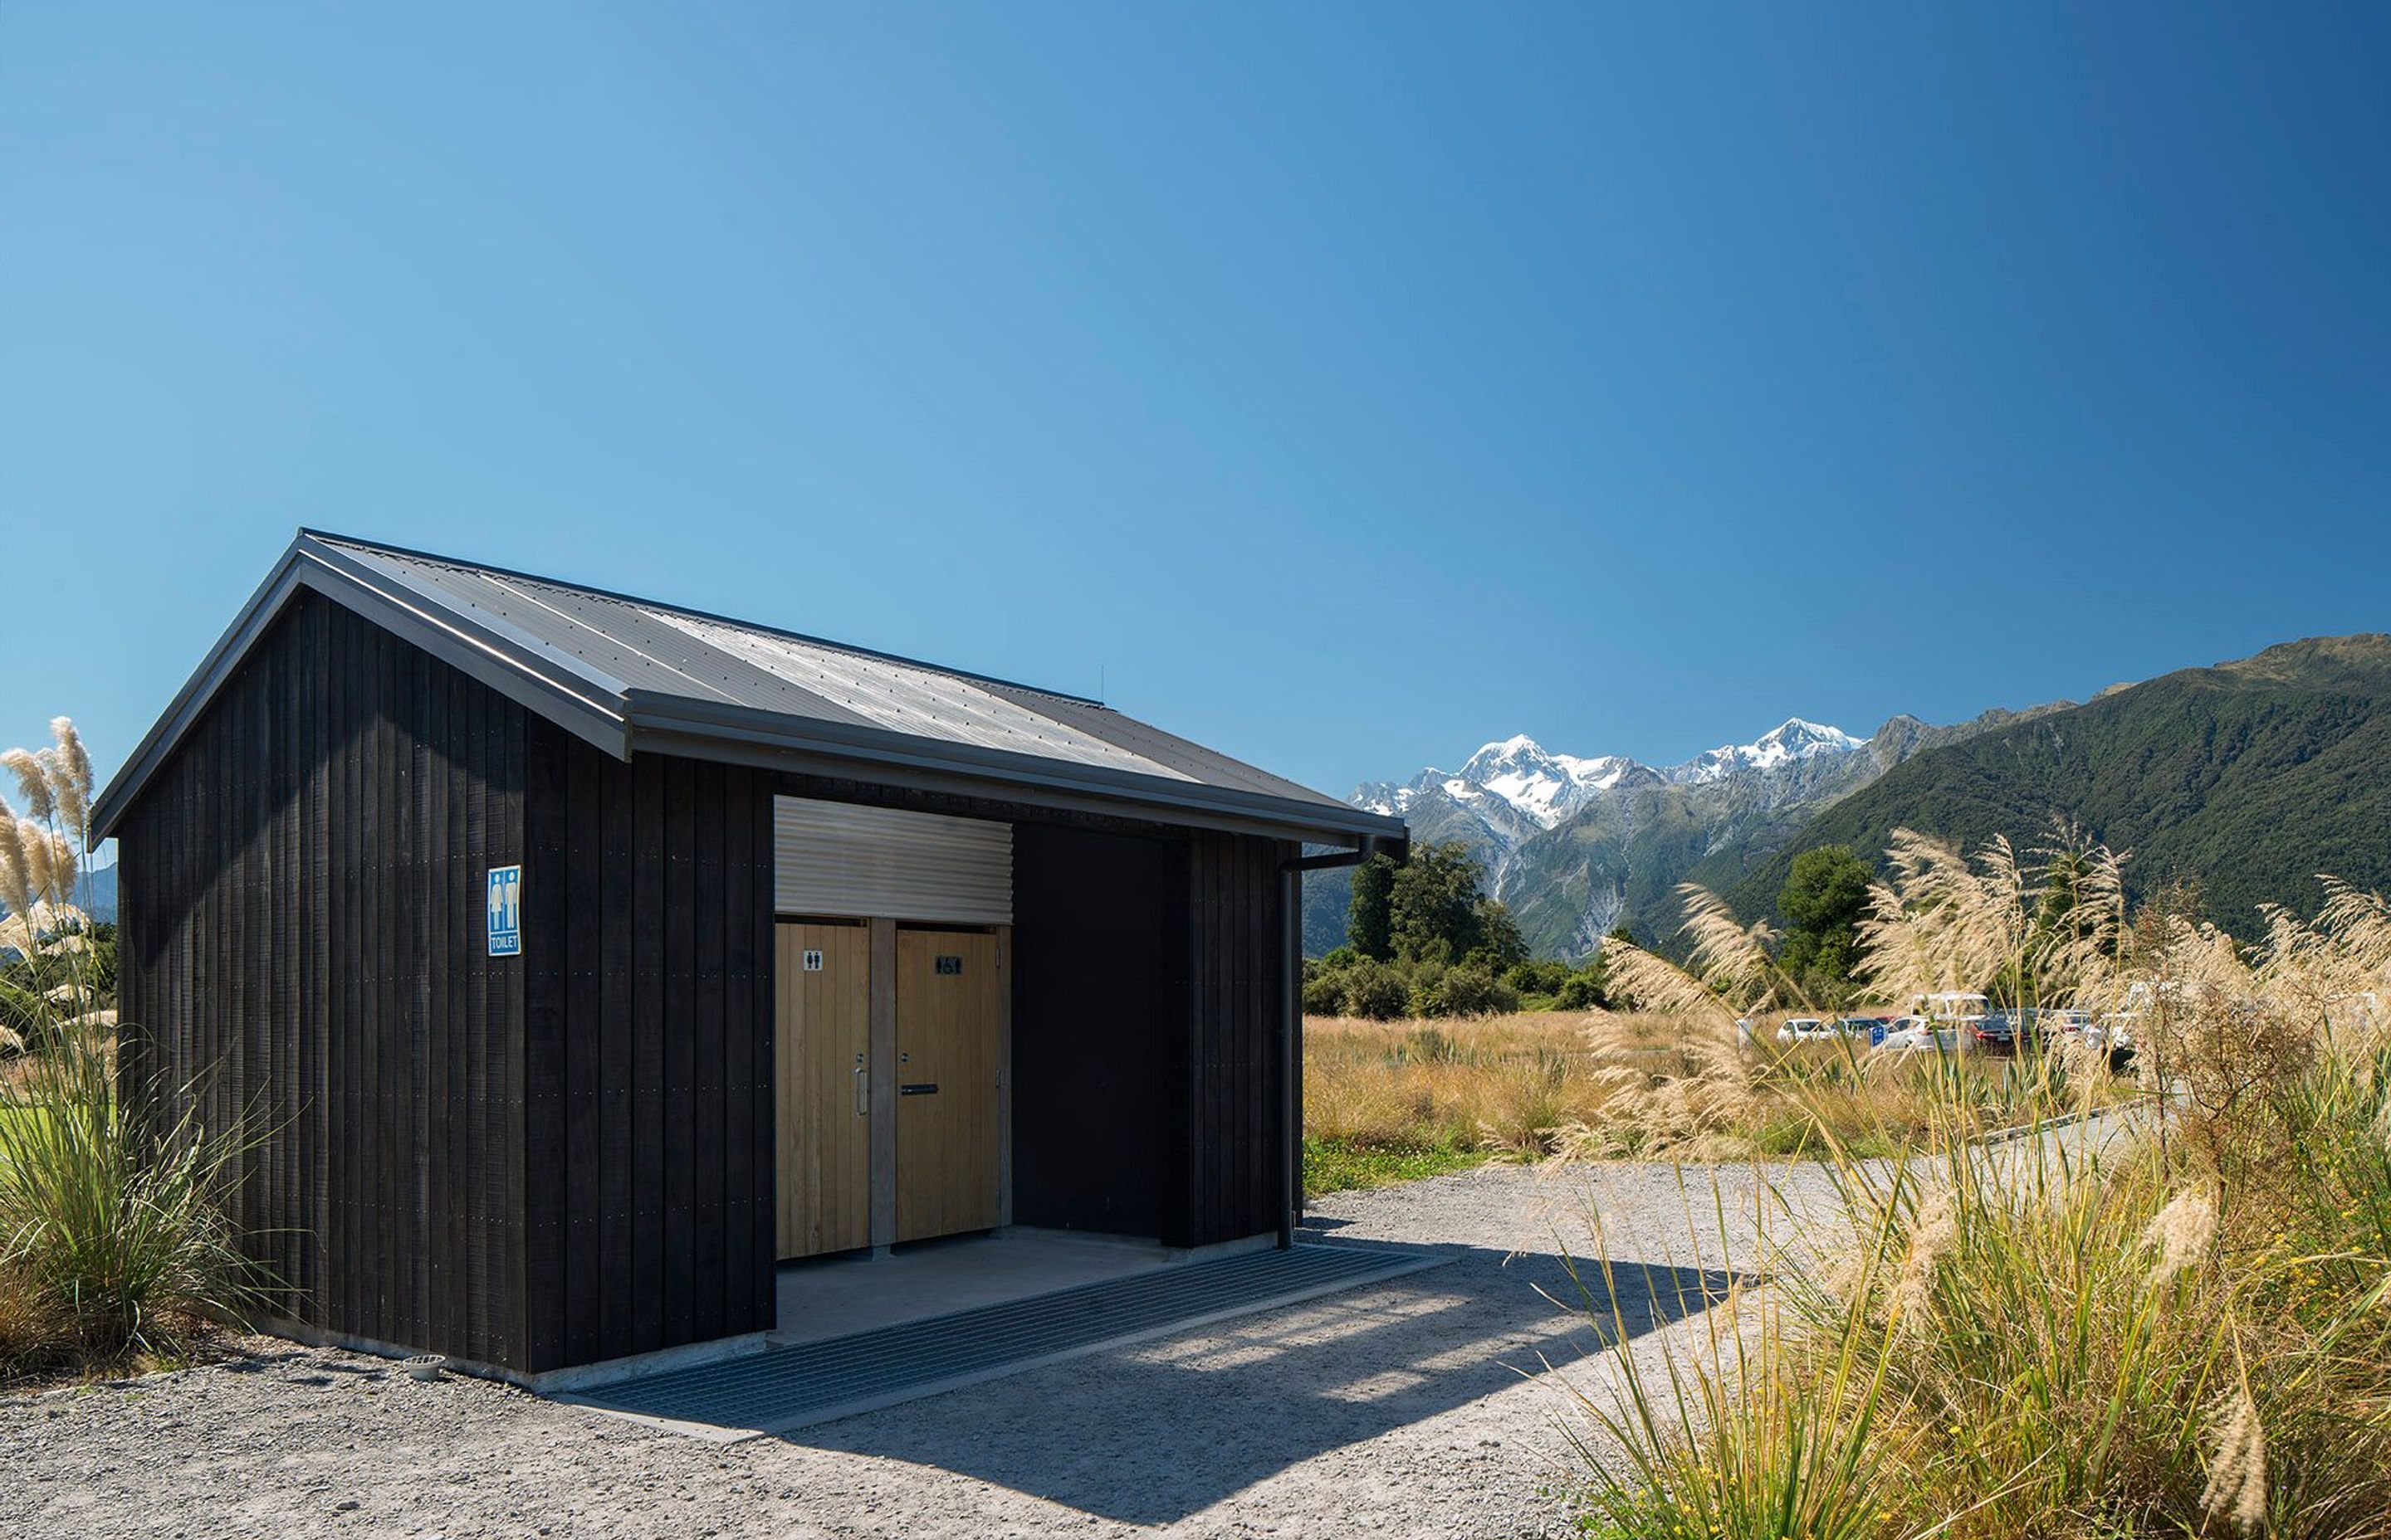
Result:
[[[617,758],[729,758],[1327,844],[1406,837],[1399,818],[1081,696],[306,528],[100,794],[103,837],[299,588]]]

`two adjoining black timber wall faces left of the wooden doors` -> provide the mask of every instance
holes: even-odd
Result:
[[[124,1095],[251,1119],[285,1315],[514,1370],[770,1325],[758,772],[614,760],[301,595],[117,844]]]

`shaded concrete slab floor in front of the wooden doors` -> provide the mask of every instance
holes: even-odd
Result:
[[[770,1342],[827,1342],[1076,1284],[1172,1267],[1155,1241],[1014,1227],[913,1241],[887,1255],[834,1255],[779,1267],[779,1327]]]

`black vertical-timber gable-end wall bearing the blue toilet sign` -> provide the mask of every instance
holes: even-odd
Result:
[[[249,1117],[234,1220],[325,1332],[524,1361],[524,710],[304,593],[117,830],[120,1095]]]

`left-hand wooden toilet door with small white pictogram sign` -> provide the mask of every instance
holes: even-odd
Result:
[[[779,1255],[870,1246],[870,933],[782,921],[772,978]]]

